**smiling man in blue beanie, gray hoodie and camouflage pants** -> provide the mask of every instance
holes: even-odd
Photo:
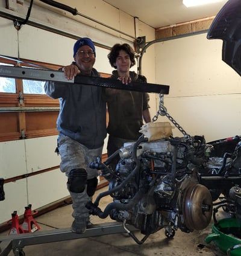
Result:
[[[91,39],[84,37],[77,40],[74,45],[76,64],[64,67],[64,74],[70,79],[75,75],[98,77],[98,72],[93,68],[95,56],[95,45]],[[89,220],[85,205],[95,193],[98,183],[98,171],[90,169],[89,163],[102,155],[106,136],[102,88],[46,82],[45,92],[60,101],[57,119],[60,170],[68,178],[67,188],[73,200],[72,232],[83,233]]]

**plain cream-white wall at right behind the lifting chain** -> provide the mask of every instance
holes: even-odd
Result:
[[[241,79],[222,62],[222,41],[206,36],[156,43],[155,78],[171,86],[164,96],[169,114],[190,135],[212,141],[240,135]],[[174,135],[181,133],[174,129]]]

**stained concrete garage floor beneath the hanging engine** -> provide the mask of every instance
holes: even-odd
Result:
[[[96,194],[102,190],[96,191]],[[94,197],[95,199],[95,197]],[[111,197],[104,197],[101,200],[101,208],[107,203],[111,202]],[[44,214],[36,218],[42,231],[49,229],[69,228],[72,223],[72,205],[66,205],[61,208],[57,208],[54,211]],[[91,221],[94,224],[103,222],[113,222],[110,218],[99,219],[96,216],[91,217]],[[102,235],[101,237],[81,238],[78,240],[69,240],[64,242],[46,243],[43,245],[27,246],[23,249],[27,256],[107,256],[107,255],[165,255],[165,256],[221,256],[221,251],[214,245],[207,245],[204,242],[207,234],[211,232],[211,225],[202,231],[194,231],[190,234],[186,234],[181,231],[177,231],[174,238],[166,238],[164,235],[164,229],[149,236],[143,245],[137,245],[134,240],[125,236],[124,234]],[[37,231],[38,232],[38,231]],[[6,235],[7,232],[0,234],[0,240],[2,235]],[[142,234],[135,232],[140,239]],[[14,255],[11,252],[9,255]]]

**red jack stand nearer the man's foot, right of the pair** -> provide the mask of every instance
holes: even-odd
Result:
[[[25,233],[33,233],[34,231],[40,229],[40,226],[33,217],[33,215],[37,214],[37,212],[32,213],[31,206],[32,205],[28,205],[25,207],[24,220],[22,223],[22,228]]]

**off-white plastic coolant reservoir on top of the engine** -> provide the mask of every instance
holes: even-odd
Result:
[[[172,135],[173,126],[169,122],[155,122],[143,124],[140,133],[148,138],[148,141],[168,138]]]

